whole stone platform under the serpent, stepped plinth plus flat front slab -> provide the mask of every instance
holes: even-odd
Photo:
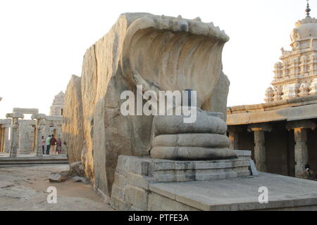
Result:
[[[173,161],[120,155],[111,193],[116,210],[317,210],[317,182],[260,173],[249,160]],[[259,188],[268,203],[259,203]]]

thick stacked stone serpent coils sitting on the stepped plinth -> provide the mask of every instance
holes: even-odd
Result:
[[[180,108],[187,108],[180,107]],[[219,117],[197,108],[197,119],[183,122],[184,115],[155,116],[151,158],[166,160],[223,160],[237,158],[225,135],[227,125]]]

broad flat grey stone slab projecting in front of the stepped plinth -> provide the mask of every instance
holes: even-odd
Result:
[[[259,203],[259,188],[268,188],[268,203]],[[259,176],[215,181],[152,183],[153,193],[198,210],[316,210],[317,182],[290,176]]]

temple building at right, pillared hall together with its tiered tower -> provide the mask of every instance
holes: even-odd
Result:
[[[253,149],[261,172],[304,178],[317,171],[317,20],[295,23],[291,51],[282,50],[266,103],[227,108],[232,149]]]

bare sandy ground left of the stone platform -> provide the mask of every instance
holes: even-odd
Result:
[[[90,184],[68,180],[50,183],[51,172],[68,170],[68,165],[39,165],[0,168],[0,211],[6,210],[113,210]],[[57,203],[48,203],[49,186],[56,188]],[[49,198],[51,199],[51,198]]]

